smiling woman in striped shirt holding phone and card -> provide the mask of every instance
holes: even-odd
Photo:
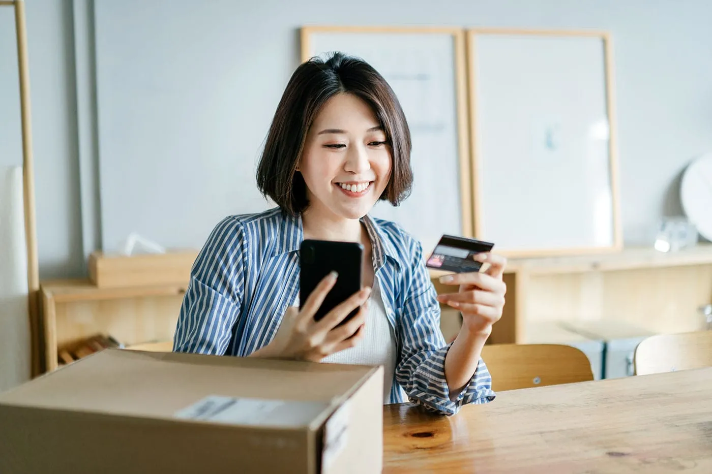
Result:
[[[410,148],[399,102],[370,65],[340,53],[300,65],[257,172],[259,189],[278,207],[214,228],[192,268],[174,350],[382,365],[385,403],[409,400],[441,414],[491,401],[480,354],[502,314],[505,260],[482,255],[486,273],[445,277],[459,291],[437,297],[420,244],[367,215],[377,200],[397,205],[409,193]],[[315,310],[338,277],[325,278],[296,309],[305,238],[365,249],[364,288],[319,322]],[[439,329],[439,302],[463,314],[451,344]]]

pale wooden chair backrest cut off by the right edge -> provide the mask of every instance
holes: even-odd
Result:
[[[637,375],[712,367],[712,331],[648,337],[636,347],[633,362]]]

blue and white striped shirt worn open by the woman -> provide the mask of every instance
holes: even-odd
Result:
[[[441,414],[494,399],[482,360],[471,381],[450,399],[444,373],[449,344],[440,331],[440,306],[420,243],[395,223],[362,218],[396,335],[397,363],[390,403],[411,401]],[[229,216],[211,232],[191,270],[180,310],[176,352],[246,357],[276,335],[299,292],[300,216],[280,209]]]

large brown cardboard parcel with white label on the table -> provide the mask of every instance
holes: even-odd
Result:
[[[379,473],[383,369],[105,349],[0,394],[0,473]]]

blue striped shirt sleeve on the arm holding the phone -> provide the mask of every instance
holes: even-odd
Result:
[[[241,314],[246,241],[228,217],[211,232],[193,264],[173,339],[174,352],[225,354]]]

